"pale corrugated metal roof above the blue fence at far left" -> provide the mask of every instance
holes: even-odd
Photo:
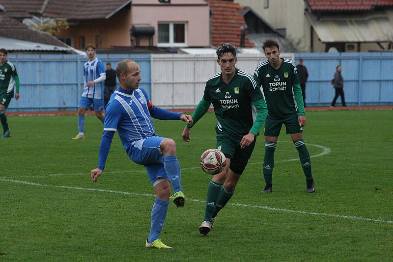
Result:
[[[71,52],[70,48],[0,37],[0,46],[8,51],[58,51]]]

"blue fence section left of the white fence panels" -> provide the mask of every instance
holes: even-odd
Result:
[[[140,66],[141,86],[150,96],[150,54],[99,54],[104,64],[132,59]],[[87,61],[76,54],[8,55],[20,79],[18,101],[14,99],[8,111],[68,111],[77,110],[83,93],[83,65]],[[117,79],[116,79],[117,81]],[[118,83],[118,81],[117,81]]]

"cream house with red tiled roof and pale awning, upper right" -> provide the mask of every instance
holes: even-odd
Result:
[[[301,52],[393,50],[393,0],[235,0]]]

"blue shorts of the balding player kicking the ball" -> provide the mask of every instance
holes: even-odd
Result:
[[[156,185],[157,179],[169,180],[165,172],[163,154],[160,145],[165,137],[155,136],[146,138],[144,141],[135,144],[129,151],[129,157],[137,164],[144,165],[150,182]]]

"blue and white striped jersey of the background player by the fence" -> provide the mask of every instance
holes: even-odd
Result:
[[[102,99],[104,97],[104,81],[95,83],[88,87],[87,83],[99,78],[105,74],[104,63],[96,58],[93,61],[87,61],[84,63],[83,75],[84,75],[84,90],[82,93],[83,97]]]

